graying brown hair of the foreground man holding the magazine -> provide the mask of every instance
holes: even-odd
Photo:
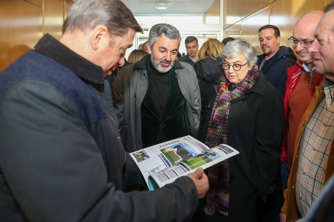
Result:
[[[62,32],[87,32],[98,25],[105,25],[116,36],[124,36],[129,28],[142,32],[130,9],[119,0],[77,0],[66,16]]]

